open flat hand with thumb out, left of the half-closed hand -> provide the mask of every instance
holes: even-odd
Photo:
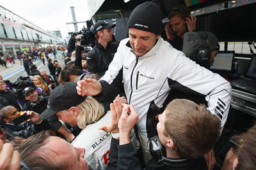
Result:
[[[105,132],[118,133],[118,121],[122,113],[122,108],[122,103],[120,103],[119,100],[114,100],[114,102],[110,104],[111,123],[109,125],[100,126],[99,130],[103,130]]]

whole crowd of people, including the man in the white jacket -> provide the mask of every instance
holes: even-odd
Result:
[[[0,76],[0,169],[213,169],[231,103],[230,83],[209,70],[218,38],[178,6],[163,39],[162,18],[140,4],[120,43],[98,21],[95,46],[77,35],[65,66],[36,55],[50,74],[22,54],[28,76]],[[255,169],[255,128],[230,139],[223,170]]]

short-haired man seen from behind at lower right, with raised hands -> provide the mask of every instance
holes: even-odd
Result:
[[[116,145],[118,141],[112,139],[111,152],[115,153],[113,151],[118,147],[118,169],[140,169],[129,136],[139,119],[138,114],[131,105],[124,105],[122,114],[119,114],[113,114],[112,122],[108,125],[112,127],[112,131],[119,131],[119,146]],[[114,124],[118,119],[116,117],[120,117],[118,124]],[[204,155],[214,147],[220,136],[221,125],[218,117],[212,115],[203,105],[199,106],[186,99],[176,99],[168,104],[158,119],[158,137],[150,139],[149,145],[154,149],[158,146],[161,151],[150,150],[157,157],[148,162],[146,169],[207,169]]]

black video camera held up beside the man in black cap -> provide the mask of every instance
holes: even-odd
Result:
[[[80,39],[76,39],[77,41],[81,41],[81,46],[92,46],[94,44],[95,37],[92,30],[83,27],[81,31],[75,32],[74,36],[79,34],[83,34]]]

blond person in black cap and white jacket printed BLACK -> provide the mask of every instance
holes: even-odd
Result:
[[[91,96],[79,96],[76,83],[65,82],[51,92],[49,108],[41,115],[58,119],[83,129],[72,141],[74,147],[85,148],[84,160],[91,169],[106,169],[111,143],[111,133],[99,131],[98,127],[111,122],[111,111],[104,111],[102,104]]]

